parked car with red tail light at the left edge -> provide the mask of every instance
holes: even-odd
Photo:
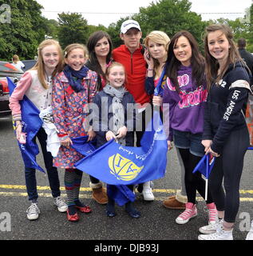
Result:
[[[9,62],[0,62],[0,116],[10,114],[10,95],[6,77],[17,83],[23,73],[23,70],[19,70]]]

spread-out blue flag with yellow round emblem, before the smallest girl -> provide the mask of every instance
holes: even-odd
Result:
[[[155,111],[140,147],[121,146],[114,140],[81,159],[74,166],[110,185],[130,185],[163,178],[167,164],[167,140],[159,112]]]

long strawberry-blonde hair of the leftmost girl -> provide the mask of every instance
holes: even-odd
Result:
[[[46,83],[45,80],[45,66],[44,66],[44,62],[42,59],[42,50],[46,47],[46,46],[57,46],[57,51],[59,54],[59,62],[55,68],[55,70],[53,70],[53,74],[52,77],[54,77],[56,74],[60,73],[62,70],[62,51],[61,51],[61,46],[59,44],[59,42],[57,42],[56,40],[53,39],[45,39],[44,41],[42,41],[40,43],[40,45],[38,46],[38,60],[36,62],[36,64],[34,65],[34,67],[31,70],[37,70],[38,71],[38,79],[39,81],[42,83],[42,86],[47,89],[48,85]]]

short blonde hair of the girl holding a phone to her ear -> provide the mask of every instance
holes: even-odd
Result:
[[[144,38],[144,46],[146,46],[147,49],[148,49],[148,41],[149,40],[152,40],[155,43],[159,43],[161,45],[164,45],[166,53],[168,54],[168,45],[169,45],[169,42],[170,42],[170,38],[168,37],[168,35],[166,33],[164,33],[163,31],[160,31],[160,30],[153,30],[152,32],[150,32],[146,36],[146,38]],[[152,56],[150,56],[150,58],[152,58]],[[157,68],[160,65],[160,63],[158,62],[158,60],[156,58],[152,58],[152,59],[153,59],[153,62],[154,62],[154,70],[155,70],[155,73],[156,73]],[[165,60],[165,62],[166,62],[166,60]]]

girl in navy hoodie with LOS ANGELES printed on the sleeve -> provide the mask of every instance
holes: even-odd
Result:
[[[223,24],[206,28],[204,38],[208,102],[202,144],[216,157],[209,188],[219,222],[203,226],[200,240],[232,240],[239,210],[239,182],[249,146],[244,114],[250,88],[250,71],[240,58],[231,29]],[[222,182],[224,178],[223,190]]]

